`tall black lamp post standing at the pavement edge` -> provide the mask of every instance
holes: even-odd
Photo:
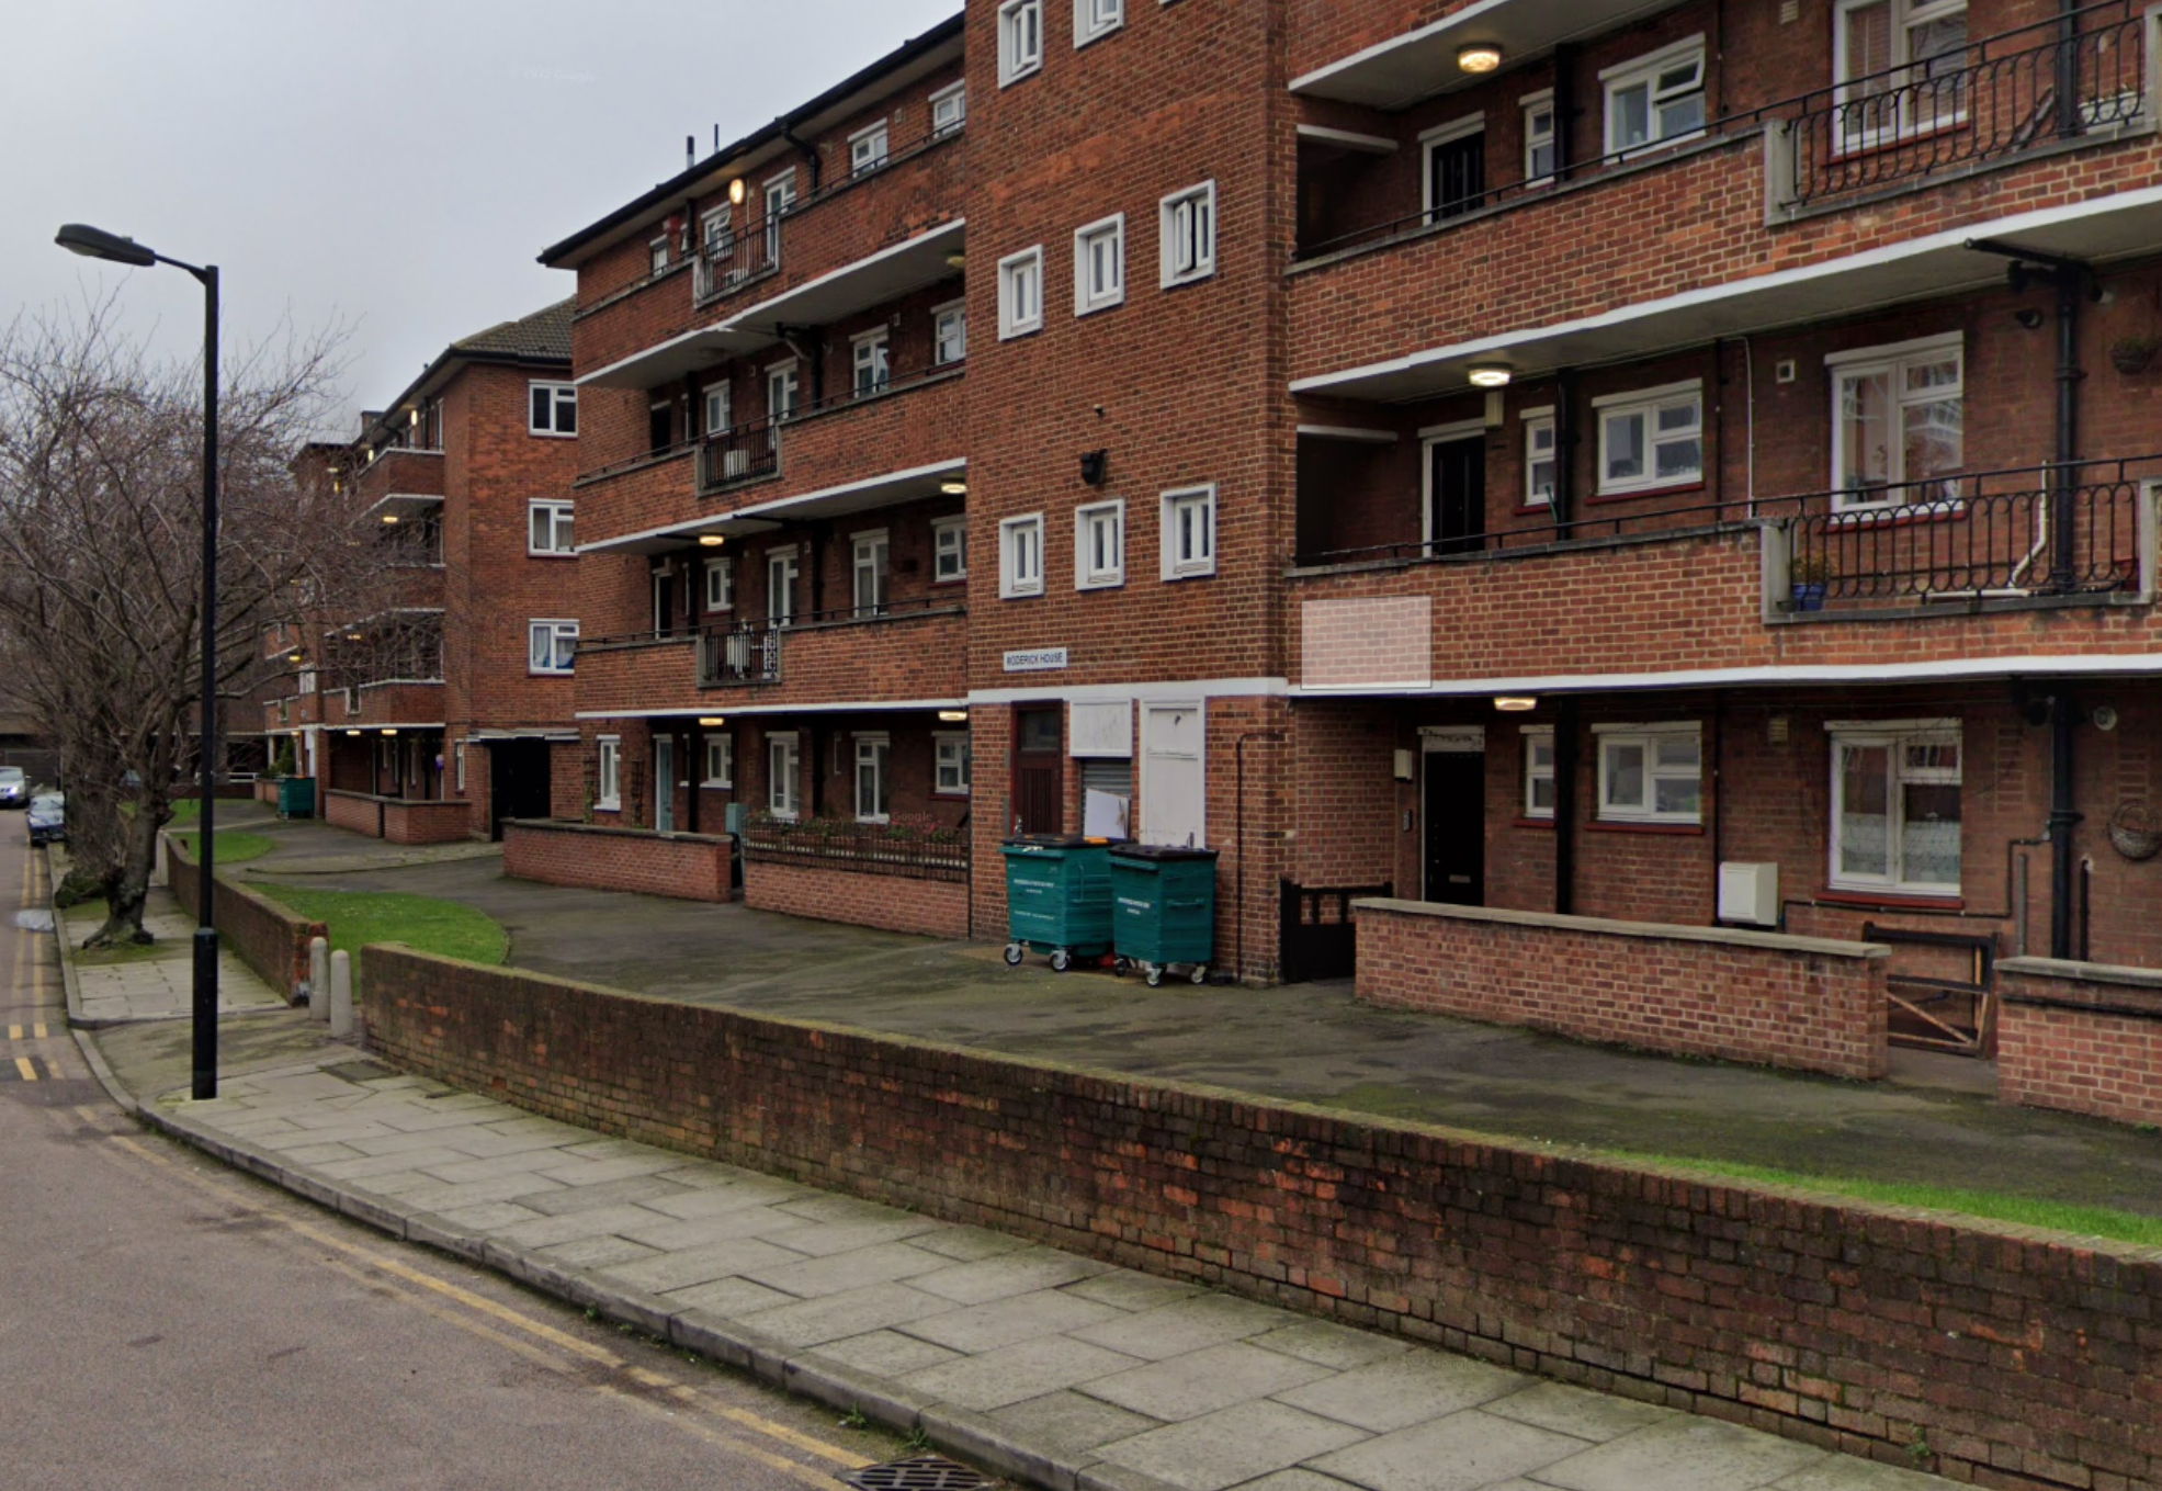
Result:
[[[134,238],[108,234],[86,223],[67,223],[54,236],[69,253],[149,268],[171,264],[184,268],[203,286],[203,701],[201,762],[197,790],[203,820],[197,833],[201,876],[195,911],[195,1084],[201,1101],[218,1095],[218,928],[214,924],[212,883],[216,876],[216,805],[218,805],[218,266],[169,260]]]

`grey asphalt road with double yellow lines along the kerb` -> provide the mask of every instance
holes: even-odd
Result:
[[[0,814],[0,1485],[802,1491],[904,1452],[151,1136],[41,898]]]

